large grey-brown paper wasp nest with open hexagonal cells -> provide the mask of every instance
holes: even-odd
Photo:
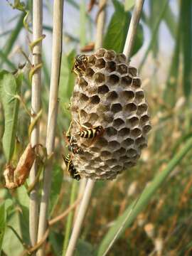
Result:
[[[82,153],[73,155],[73,164],[82,177],[112,179],[137,163],[151,125],[137,69],[123,54],[100,48],[88,57],[71,97],[73,120],[78,112],[82,124],[105,129],[95,139],[75,135]],[[78,131],[73,122],[71,134]]]

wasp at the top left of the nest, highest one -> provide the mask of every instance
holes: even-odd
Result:
[[[72,72],[76,75],[82,76],[87,68],[88,57],[85,54],[79,54],[75,57]]]

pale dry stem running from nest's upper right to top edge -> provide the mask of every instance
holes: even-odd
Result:
[[[137,25],[139,23],[139,19],[142,14],[143,5],[144,5],[144,0],[135,1],[134,11],[133,11],[132,19],[129,25],[129,31],[127,33],[127,38],[126,38],[126,41],[124,44],[124,50],[123,50],[123,53],[124,55],[126,55],[128,62],[132,53],[134,38],[137,32]]]

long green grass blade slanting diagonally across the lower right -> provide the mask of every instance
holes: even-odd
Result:
[[[171,171],[174,171],[174,168],[181,162],[183,157],[191,150],[192,146],[192,138],[188,139],[186,144],[183,146],[181,151],[176,154],[166,168],[157,174],[154,177],[154,180],[149,183],[144,191],[142,192],[141,196],[139,197],[138,201],[134,202],[129,206],[124,213],[117,218],[116,222],[110,228],[110,230],[105,235],[105,238],[102,240],[100,247],[97,252],[97,256],[105,255],[105,252],[110,249],[111,245],[124,233],[124,231],[129,228],[130,225],[134,222],[137,218],[137,215],[144,210],[154,196],[154,193],[158,190],[158,188],[164,183],[167,176],[171,174]]]

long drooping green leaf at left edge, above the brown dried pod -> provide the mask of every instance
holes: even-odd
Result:
[[[8,163],[14,153],[18,119],[19,101],[14,98],[14,95],[20,94],[22,80],[22,73],[16,78],[6,70],[0,72],[0,97],[5,118],[3,148]]]

